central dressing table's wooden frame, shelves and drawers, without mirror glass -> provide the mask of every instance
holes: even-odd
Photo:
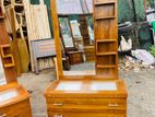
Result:
[[[128,94],[117,72],[117,0],[94,0],[94,16],[98,17],[95,21],[96,65],[100,67],[96,67],[96,75],[81,77],[63,74],[56,1],[51,0],[50,3],[58,80],[45,92],[48,117],[127,117]],[[115,15],[111,15],[114,11]],[[99,14],[99,17],[97,13],[103,15]],[[110,28],[109,25],[115,26]],[[97,57],[102,57],[102,60]]]

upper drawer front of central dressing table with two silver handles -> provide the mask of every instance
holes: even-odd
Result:
[[[87,110],[126,110],[127,101],[117,98],[48,98],[48,109],[69,110],[87,109]]]

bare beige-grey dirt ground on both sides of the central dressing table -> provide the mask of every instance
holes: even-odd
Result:
[[[155,117],[155,70],[146,69],[138,73],[121,71],[120,78],[127,83],[128,117]],[[31,92],[34,117],[46,117],[44,91],[56,79],[55,70],[47,70],[39,75],[26,73],[19,82]]]

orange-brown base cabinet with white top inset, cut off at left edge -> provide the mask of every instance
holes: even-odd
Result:
[[[21,85],[0,87],[0,117],[32,117],[29,95]]]

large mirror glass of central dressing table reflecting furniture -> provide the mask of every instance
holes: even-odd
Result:
[[[57,11],[63,75],[95,75],[92,0],[57,0]]]

